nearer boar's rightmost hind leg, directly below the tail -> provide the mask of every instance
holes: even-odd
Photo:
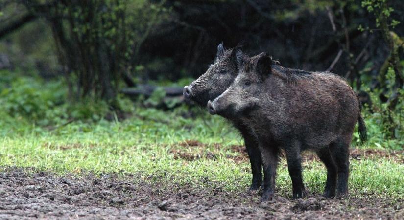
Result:
[[[349,141],[337,140],[331,143],[330,152],[338,170],[336,197],[343,198],[348,194]]]

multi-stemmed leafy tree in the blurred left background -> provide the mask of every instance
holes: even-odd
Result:
[[[115,102],[121,75],[132,71],[143,41],[169,16],[164,1],[27,0],[22,4],[33,14],[47,15],[59,63],[73,85],[70,98],[83,101]]]

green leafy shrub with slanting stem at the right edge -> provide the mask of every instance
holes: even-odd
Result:
[[[376,132],[376,135],[380,137],[379,142],[386,139],[396,139],[396,142],[403,144],[400,140],[404,138],[402,123],[404,120],[404,86],[400,80],[397,80],[404,75],[399,56],[402,40],[390,30],[400,22],[391,18],[394,9],[388,3],[388,0],[363,0],[361,4],[363,8],[375,16],[376,27],[380,28],[390,49],[390,54],[381,66],[378,76],[381,87],[373,90],[367,88],[366,85],[370,85],[369,79],[366,80],[367,83],[365,81],[364,87],[367,88],[367,92],[372,98],[371,110],[373,114],[369,114],[369,117],[378,125],[373,129],[380,132]],[[366,29],[369,30],[369,27]],[[359,30],[364,31],[365,28],[359,26]],[[387,102],[381,102],[380,96],[387,97]]]

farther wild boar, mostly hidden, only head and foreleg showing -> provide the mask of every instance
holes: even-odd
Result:
[[[223,44],[217,46],[217,55],[214,63],[198,79],[189,86],[184,87],[184,97],[206,107],[209,100],[214,100],[222,94],[234,81],[238,73],[240,61],[247,56],[242,53],[240,46],[225,49]],[[238,119],[230,119],[244,138],[245,147],[251,163],[252,183],[251,190],[257,190],[262,182],[262,161],[257,140]]]

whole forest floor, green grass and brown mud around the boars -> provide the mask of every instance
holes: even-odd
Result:
[[[327,171],[305,152],[308,198],[291,199],[281,157],[275,200],[260,203],[238,133],[188,112],[138,109],[53,127],[0,121],[0,219],[403,219],[404,146],[375,124],[366,145],[354,134],[348,198],[320,196]]]

